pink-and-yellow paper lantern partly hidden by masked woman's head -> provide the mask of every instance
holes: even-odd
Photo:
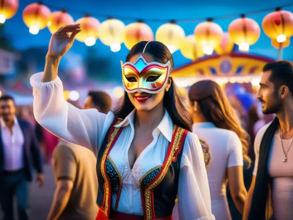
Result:
[[[124,44],[128,50],[130,50],[134,45],[141,41],[153,40],[153,31],[147,24],[143,23],[142,21],[130,23],[125,27]]]

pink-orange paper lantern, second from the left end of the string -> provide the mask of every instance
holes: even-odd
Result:
[[[32,3],[25,7],[22,13],[23,22],[31,34],[38,34],[39,30],[47,27],[51,11],[42,3]]]

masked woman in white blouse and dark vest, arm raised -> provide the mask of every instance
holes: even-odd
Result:
[[[169,220],[178,194],[180,219],[214,220],[201,145],[170,77],[168,48],[134,45],[121,65],[125,95],[115,114],[80,110],[64,100],[57,76],[79,31],[68,25],[52,35],[45,70],[30,82],[36,120],[97,155],[96,219]]]

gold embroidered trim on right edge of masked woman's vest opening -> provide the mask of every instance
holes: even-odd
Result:
[[[176,126],[173,126],[173,129],[175,129]],[[174,130],[173,130],[174,131]],[[145,189],[144,192],[144,202],[145,202],[145,209],[146,209],[146,220],[151,220],[154,218],[153,216],[153,212],[152,212],[152,199],[151,199],[151,191],[157,186],[159,185],[159,183],[163,180],[163,178],[165,177],[167,170],[169,169],[171,163],[172,163],[172,159],[174,154],[176,153],[176,151],[179,149],[180,147],[180,143],[181,143],[181,138],[183,136],[185,129],[178,127],[177,132],[175,134],[174,137],[174,141],[173,141],[173,145],[171,148],[171,152],[168,156],[167,162],[165,167],[163,167],[163,171],[161,172],[161,175],[159,176],[159,178],[153,183],[151,184],[149,187],[147,187]]]

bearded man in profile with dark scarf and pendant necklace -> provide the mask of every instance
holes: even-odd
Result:
[[[256,96],[263,113],[276,118],[255,137],[255,167],[243,220],[293,219],[292,94],[292,62],[266,64]]]

